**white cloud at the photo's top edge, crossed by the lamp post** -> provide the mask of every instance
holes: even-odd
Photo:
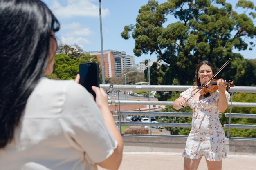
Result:
[[[58,0],[53,0],[51,9],[57,18],[72,17],[99,17],[99,5],[95,5],[92,0],[67,0],[65,5],[60,4]],[[101,15],[109,15],[108,8],[101,8]]]

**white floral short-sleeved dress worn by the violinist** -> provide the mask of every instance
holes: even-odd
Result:
[[[189,99],[196,87],[191,87],[182,92],[180,96]],[[194,101],[189,99],[188,105],[193,109],[192,128],[186,141],[183,157],[199,159],[204,156],[209,161],[221,161],[228,158],[225,148],[225,132],[219,120],[217,100],[218,90],[208,97]],[[230,94],[226,91],[226,99],[229,102]]]

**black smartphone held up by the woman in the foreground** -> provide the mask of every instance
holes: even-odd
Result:
[[[99,64],[97,62],[80,64],[79,74],[79,84],[84,86],[86,90],[90,92],[95,99],[96,94],[92,90],[92,86],[99,87]]]

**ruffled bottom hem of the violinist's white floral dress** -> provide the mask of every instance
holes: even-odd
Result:
[[[227,155],[227,152],[206,152],[206,151],[201,151],[196,152],[194,150],[187,150],[185,149],[182,153],[182,157],[190,158],[190,159],[199,159],[200,157],[204,156],[208,161],[221,161],[222,158],[229,158]]]

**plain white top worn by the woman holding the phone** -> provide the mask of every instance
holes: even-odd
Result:
[[[41,78],[0,149],[1,170],[96,170],[117,147],[92,95],[73,80]]]

